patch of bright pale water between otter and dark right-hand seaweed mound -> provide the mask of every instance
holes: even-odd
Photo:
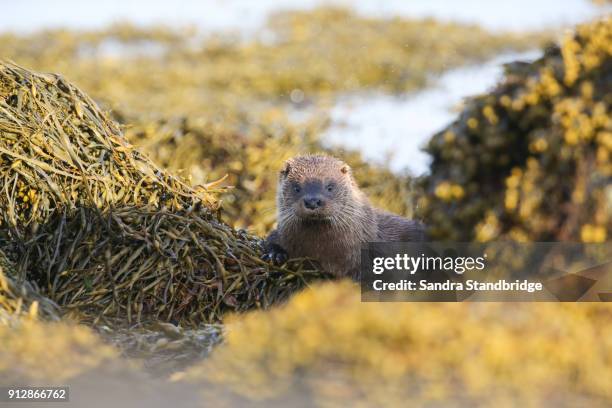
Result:
[[[504,54],[486,63],[448,71],[433,87],[407,96],[346,96],[331,110],[332,125],[324,140],[361,151],[370,161],[393,171],[425,173],[429,156],[421,150],[429,138],[450,123],[466,97],[495,85],[503,64],[532,61],[540,51]]]

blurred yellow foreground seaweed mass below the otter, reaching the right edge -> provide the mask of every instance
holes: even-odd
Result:
[[[260,406],[604,406],[610,319],[601,304],[362,303],[327,282],[228,319],[224,343],[173,379]]]

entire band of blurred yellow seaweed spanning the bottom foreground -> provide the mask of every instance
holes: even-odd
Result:
[[[153,341],[153,359],[179,370],[171,383],[121,362],[86,327],[24,317],[0,323],[0,384],[69,384],[79,390],[75,397],[104,394],[106,404],[165,401],[178,390],[172,398],[189,406],[605,407],[612,401],[608,309],[362,303],[352,282],[321,283],[283,306],[231,316],[224,342],[195,362],[197,354],[180,365],[168,359],[173,347],[182,356],[197,339],[171,325],[160,331],[166,336],[139,338],[130,329],[115,337],[121,349]],[[90,404],[82,406],[98,406]]]

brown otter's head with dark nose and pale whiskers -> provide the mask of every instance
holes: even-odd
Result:
[[[279,176],[279,218],[332,222],[355,200],[356,190],[343,161],[324,155],[294,157],[285,162]]]

